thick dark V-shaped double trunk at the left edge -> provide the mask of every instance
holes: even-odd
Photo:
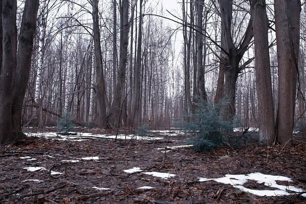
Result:
[[[22,127],[22,102],[29,79],[39,0],[26,0],[17,54],[16,0],[3,0],[0,70],[0,144],[15,141]]]

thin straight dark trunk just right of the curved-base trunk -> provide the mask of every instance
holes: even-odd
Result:
[[[131,114],[131,126],[137,126],[139,123],[139,115],[141,114],[140,107],[140,79],[141,79],[141,43],[142,43],[142,2],[139,1],[139,27],[138,27],[138,44],[137,44],[137,57],[134,72],[135,89],[133,94],[133,108]]]

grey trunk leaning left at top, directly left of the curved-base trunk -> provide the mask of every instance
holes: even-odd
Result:
[[[92,20],[93,20],[93,44],[94,44],[94,56],[96,65],[96,98],[98,107],[98,127],[107,127],[107,115],[106,115],[106,90],[104,73],[102,66],[102,53],[101,53],[101,40],[99,29],[99,10],[98,1],[92,0]]]

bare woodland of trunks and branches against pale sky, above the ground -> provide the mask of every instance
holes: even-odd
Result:
[[[0,2],[1,144],[62,117],[168,127],[198,103],[262,145],[305,128],[305,0]]]

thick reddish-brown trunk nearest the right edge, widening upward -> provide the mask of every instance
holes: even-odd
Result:
[[[279,72],[277,141],[291,145],[299,59],[301,0],[275,0]]]

